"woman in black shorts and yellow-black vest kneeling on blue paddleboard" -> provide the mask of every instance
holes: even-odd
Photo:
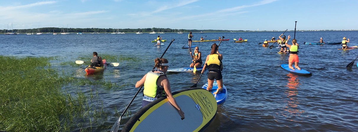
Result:
[[[222,62],[223,55],[218,52],[218,45],[214,43],[211,45],[211,52],[210,55],[206,57],[205,65],[201,73],[204,73],[205,68],[209,69],[208,74],[208,87],[207,90],[211,91],[213,88],[214,79],[218,84],[218,89],[213,94],[217,94],[223,91],[223,76],[221,75],[222,71]]]

